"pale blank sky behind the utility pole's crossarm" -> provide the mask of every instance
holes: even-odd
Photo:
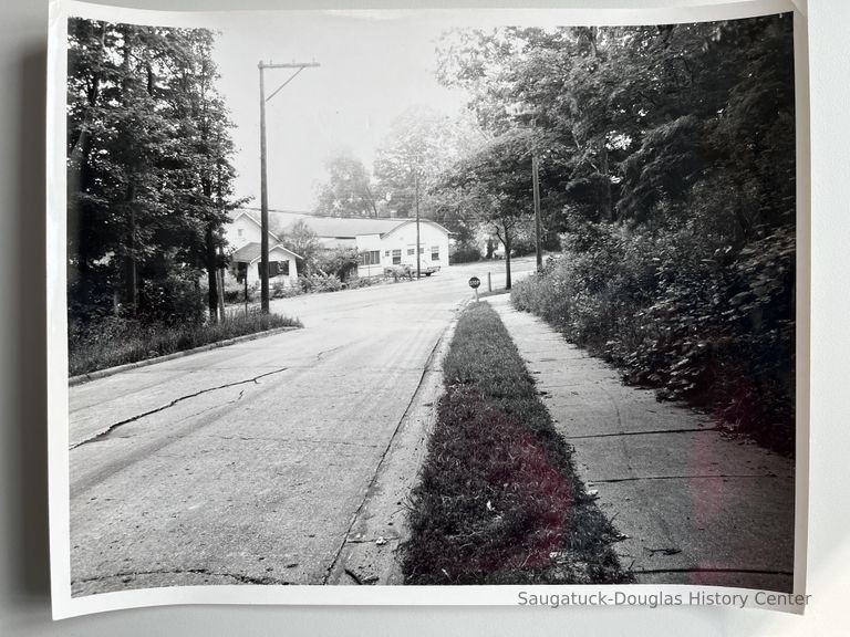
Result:
[[[435,77],[435,48],[449,27],[415,14],[341,12],[232,15],[215,50],[221,92],[236,124],[237,196],[260,199],[259,71],[266,62],[318,62],[267,102],[269,207],[311,210],[324,163],[353,155],[371,168],[393,121],[426,105],[446,115],[468,97]],[[291,74],[266,70],[270,95]]]

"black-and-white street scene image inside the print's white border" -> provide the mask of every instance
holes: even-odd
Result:
[[[794,13],[102,13],[48,223],[71,598],[799,603]]]

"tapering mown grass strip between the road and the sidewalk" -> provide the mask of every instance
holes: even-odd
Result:
[[[411,493],[407,584],[630,582],[620,539],[576,474],[496,312],[470,305],[444,362],[446,391]]]

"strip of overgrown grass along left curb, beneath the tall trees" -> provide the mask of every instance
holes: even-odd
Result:
[[[125,318],[69,326],[69,374],[79,376],[278,327],[301,327],[278,314],[236,315],[221,323],[144,325]]]

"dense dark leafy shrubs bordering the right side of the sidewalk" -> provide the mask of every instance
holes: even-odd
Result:
[[[624,370],[766,445],[794,449],[795,238],[734,249],[694,223],[595,226],[514,286],[516,307]]]

